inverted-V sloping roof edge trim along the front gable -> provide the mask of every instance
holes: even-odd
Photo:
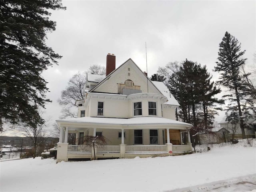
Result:
[[[134,66],[135,66],[136,68],[138,68],[138,70],[140,70],[140,72],[141,72],[142,76],[144,77],[145,81],[148,80],[148,86],[150,86],[150,85],[151,85],[151,86],[154,86],[154,88],[156,88],[156,90],[158,90],[158,92],[159,92],[160,94],[162,94],[161,91],[151,82],[151,80],[144,74],[144,72],[136,65],[136,63],[135,63],[131,58],[129,58],[128,60],[126,60],[126,62],[124,62],[122,65],[120,65],[118,68],[116,68],[116,69],[115,69],[114,71],[112,71],[110,74],[108,74],[108,76],[106,76],[101,82],[99,82],[99,83],[98,83],[94,88],[92,88],[89,92],[93,92],[96,88],[98,88],[99,86],[101,86],[106,80],[110,79],[111,76],[114,76],[115,74],[117,74],[118,71],[121,70],[121,68],[123,68],[124,66],[126,66],[126,64],[128,64],[128,61],[129,61],[129,60],[134,64]]]

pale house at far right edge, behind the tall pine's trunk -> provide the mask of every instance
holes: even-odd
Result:
[[[255,138],[256,136],[256,114],[252,115],[252,118],[247,120],[246,122],[250,126],[248,128],[244,129],[246,138]],[[238,123],[236,127],[232,126],[230,122],[226,121],[226,117],[219,122],[220,126],[225,128],[230,132],[230,137],[232,138],[232,134],[234,134],[235,139],[240,139],[242,138],[242,130],[240,128],[240,124]]]

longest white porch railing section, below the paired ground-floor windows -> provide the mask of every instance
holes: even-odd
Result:
[[[167,153],[166,145],[130,145],[125,146],[126,153]]]

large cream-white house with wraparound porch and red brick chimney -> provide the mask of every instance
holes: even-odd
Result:
[[[164,83],[150,81],[132,59],[118,68],[113,54],[106,60],[106,76],[87,74],[84,99],[76,101],[79,118],[56,120],[57,161],[94,158],[93,149],[82,145],[85,135],[108,138],[107,146],[96,147],[98,159],[191,153],[192,125],[175,120],[179,104]]]

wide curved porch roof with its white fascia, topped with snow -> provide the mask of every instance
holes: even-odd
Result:
[[[73,127],[100,127],[112,129],[134,129],[134,128],[172,128],[185,129],[192,127],[191,124],[166,119],[162,117],[134,117],[134,118],[104,118],[104,117],[80,117],[56,120],[59,126]]]

